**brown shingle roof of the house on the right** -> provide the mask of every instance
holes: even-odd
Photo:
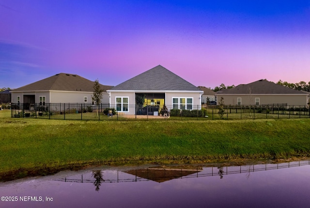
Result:
[[[272,81],[258,80],[248,84],[239,84],[231,89],[222,89],[217,94],[255,94],[255,95],[272,95],[272,94],[303,94],[303,92],[294,90]]]

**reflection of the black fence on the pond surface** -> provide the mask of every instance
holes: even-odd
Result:
[[[256,164],[246,166],[227,166],[227,167],[204,167],[204,168],[145,168],[139,170],[119,171],[119,170],[101,170],[102,183],[112,182],[137,182],[137,181],[167,181],[173,178],[190,178],[190,177],[205,177],[205,176],[220,176],[240,173],[250,173],[256,171],[266,171],[281,168],[291,168],[296,166],[310,165],[310,160],[305,161],[293,161],[279,164]],[[161,171],[158,171],[161,170]],[[194,172],[187,175],[188,172]],[[129,172],[129,173],[128,173]],[[183,172],[183,173],[182,173]],[[171,173],[176,173],[172,176]],[[144,177],[140,177],[143,175]],[[80,183],[94,183],[93,172],[86,174],[68,176],[64,178],[56,179],[64,182],[80,182]]]

